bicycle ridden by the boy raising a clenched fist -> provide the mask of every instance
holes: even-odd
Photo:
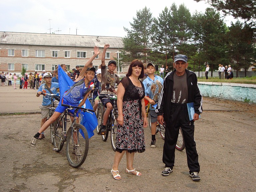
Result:
[[[106,95],[100,96],[100,98],[101,99],[108,98],[113,100],[113,108],[109,113],[108,120],[106,123],[107,133],[101,136],[103,141],[107,141],[108,132],[110,131],[112,149],[116,151],[117,118],[118,118],[118,110],[117,110],[117,104],[116,104],[117,97],[115,95],[106,94]],[[102,117],[104,117],[105,112],[106,111],[103,112]],[[103,118],[101,119],[101,124],[102,123],[103,123]]]

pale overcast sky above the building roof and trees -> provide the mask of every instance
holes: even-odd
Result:
[[[55,34],[124,37],[123,27],[130,29],[138,10],[146,6],[158,17],[173,2],[184,3],[191,15],[209,7],[194,0],[2,0],[0,31],[50,33],[51,28]]]

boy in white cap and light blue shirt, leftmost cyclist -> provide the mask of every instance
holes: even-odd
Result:
[[[59,91],[59,83],[54,83],[51,82],[52,81],[52,74],[49,72],[46,72],[44,74],[44,80],[45,83],[42,84],[38,91],[36,96],[39,97],[41,95],[41,93],[48,93],[51,94],[50,91],[46,88],[46,86],[52,91],[53,94],[56,94],[57,91]],[[54,107],[56,108],[59,104],[59,101],[57,101],[56,99],[53,99],[53,103],[54,103]],[[47,117],[49,115],[49,108],[51,107],[51,97],[49,97],[48,95],[43,95],[43,102],[42,104],[39,106],[39,108],[41,109],[41,127],[43,126],[43,124],[46,122]],[[44,136],[44,132],[42,132],[38,139],[43,139],[45,138]]]

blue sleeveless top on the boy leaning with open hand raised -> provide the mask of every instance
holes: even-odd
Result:
[[[84,79],[81,79],[80,81],[84,81]],[[74,82],[74,84],[79,83],[80,81]],[[85,87],[85,84],[83,82],[81,85],[74,86],[73,88],[71,87],[71,89],[71,91],[70,89],[67,90],[67,92],[64,93],[63,97],[72,105],[78,106],[79,101],[84,97],[88,88]]]

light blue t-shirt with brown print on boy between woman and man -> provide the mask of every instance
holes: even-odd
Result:
[[[143,85],[145,88],[145,94],[146,96],[148,96],[150,99],[154,100],[154,101],[158,101],[158,97],[159,94],[161,92],[162,89],[162,85],[163,85],[163,78],[154,75],[154,81],[152,79],[150,79],[149,77],[147,77],[146,79],[144,79],[143,81]],[[150,105],[151,110],[155,110],[156,108],[153,108],[152,105]]]

